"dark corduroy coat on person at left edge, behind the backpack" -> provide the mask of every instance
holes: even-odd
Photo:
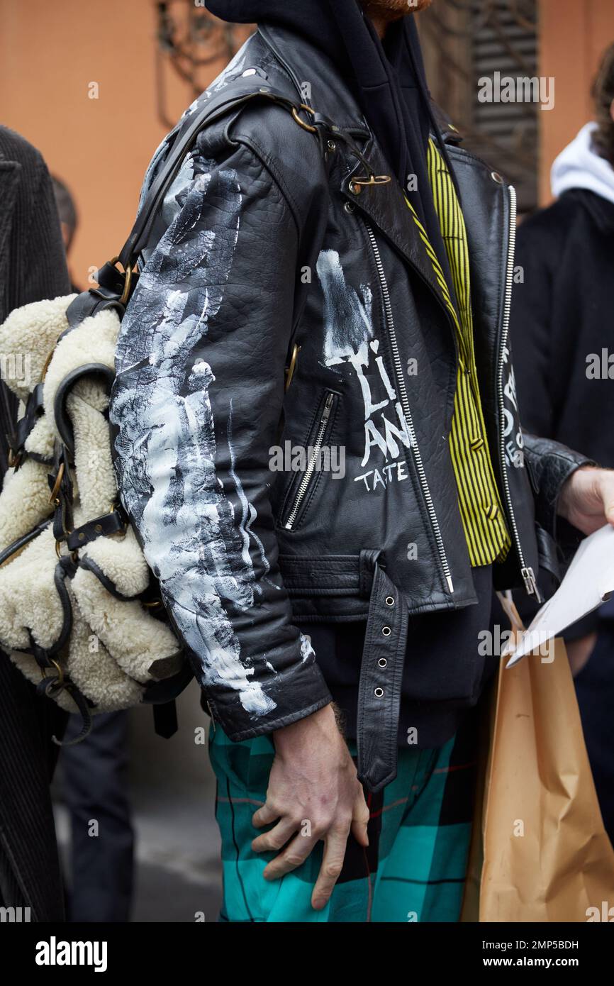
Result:
[[[0,127],[0,322],[20,305],[69,290],[44,161]],[[51,737],[61,737],[65,721],[0,652],[0,898],[4,906],[30,907],[32,921],[59,921],[64,913],[49,783],[58,750]]]

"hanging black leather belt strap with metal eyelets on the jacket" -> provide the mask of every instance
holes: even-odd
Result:
[[[409,615],[375,552],[374,581],[358,693],[358,777],[375,792],[394,780]]]

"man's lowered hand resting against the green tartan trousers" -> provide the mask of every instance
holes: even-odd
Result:
[[[252,821],[258,828],[277,824],[251,847],[257,853],[286,847],[264,871],[267,880],[278,880],[305,863],[323,839],[322,865],[311,894],[311,906],[321,910],[341,873],[350,831],[362,846],[369,845],[369,809],[332,705],[277,730],[273,740],[266,803]]]

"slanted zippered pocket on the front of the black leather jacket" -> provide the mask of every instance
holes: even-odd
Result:
[[[293,530],[305,519],[316,486],[322,481],[322,472],[332,467],[333,450],[327,446],[339,401],[339,394],[324,390],[307,434],[305,446],[289,450],[290,461],[286,467],[296,470],[284,499],[279,525]],[[286,455],[286,451],[285,451]]]

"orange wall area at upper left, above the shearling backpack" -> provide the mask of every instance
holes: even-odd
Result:
[[[72,189],[80,228],[70,266],[84,287],[127,236],[167,132],[157,118],[155,36],[152,0],[0,0],[0,119]],[[203,85],[222,67],[208,68]],[[191,95],[171,70],[165,78],[175,120]]]

